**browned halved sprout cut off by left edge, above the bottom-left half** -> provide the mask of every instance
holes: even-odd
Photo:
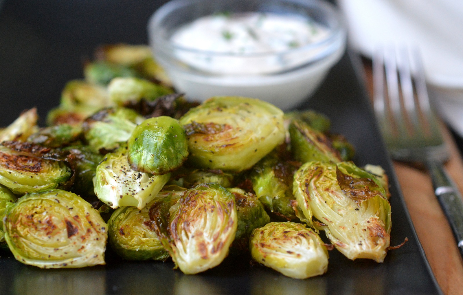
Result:
[[[0,146],[0,184],[15,194],[56,188],[71,176],[72,171],[64,162],[25,156]]]

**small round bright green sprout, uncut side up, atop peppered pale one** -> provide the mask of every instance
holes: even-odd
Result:
[[[133,130],[128,146],[131,168],[154,175],[179,168],[188,157],[185,130],[167,116],[144,120]]]

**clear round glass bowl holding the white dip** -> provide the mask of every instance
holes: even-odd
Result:
[[[328,33],[315,43],[265,53],[201,51],[170,41],[180,27],[200,17],[223,12],[296,15],[323,25]],[[161,6],[148,24],[153,54],[179,92],[196,100],[206,100],[215,95],[254,97],[282,109],[295,107],[313,94],[343,55],[345,35],[337,10],[321,0],[172,0]],[[188,63],[185,56],[210,59],[220,66],[208,68]],[[260,71],[252,67],[271,60],[282,63],[279,67]]]

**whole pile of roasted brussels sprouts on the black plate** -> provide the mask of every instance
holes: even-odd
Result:
[[[142,45],[111,45],[37,126],[0,131],[0,245],[41,268],[166,260],[186,274],[232,253],[304,279],[328,249],[382,262],[391,208],[381,167],[314,111],[252,98],[175,94]],[[330,244],[319,237],[324,231]]]

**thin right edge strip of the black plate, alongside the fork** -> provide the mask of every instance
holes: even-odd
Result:
[[[358,53],[354,52],[354,50],[352,50],[350,48],[350,46],[347,47],[347,55],[349,56],[350,63],[352,63],[352,66],[354,68],[354,72],[355,72],[355,74],[357,76],[357,80],[358,80],[358,82],[359,82],[359,84],[360,84],[360,86],[362,88],[362,94],[363,95],[362,95],[361,100],[367,106],[368,112],[372,116],[372,118],[375,118],[375,114],[373,112],[370,100],[368,98],[369,94],[368,94],[367,88],[365,86],[366,73],[365,73],[365,70],[363,69],[362,60],[360,58],[360,55]],[[378,122],[376,120],[374,120],[374,126],[375,126],[375,129],[378,132],[378,134],[381,134],[379,126],[378,126]],[[402,190],[400,188],[399,180],[397,178],[397,175],[395,174],[394,165],[392,163],[392,158],[391,158],[391,156],[389,154],[389,151],[388,151],[388,149],[386,147],[386,144],[385,144],[384,139],[382,138],[382,136],[380,136],[380,141],[381,141],[382,148],[384,149],[384,151],[387,152],[388,164],[393,168],[393,169],[391,169],[391,174],[392,175],[388,176],[389,180],[390,181],[392,180],[392,182],[394,182],[394,185],[398,188],[397,189],[397,191],[399,193],[398,197],[400,199],[400,202],[402,203],[402,206],[406,209],[405,213],[406,213],[406,217],[407,217],[407,220],[408,220],[408,224],[410,225],[410,227],[412,229],[412,232],[413,232],[413,238],[417,241],[419,252],[421,254],[421,257],[423,257],[423,259],[425,261],[425,265],[426,265],[426,268],[427,268],[429,274],[431,275],[432,282],[436,286],[436,289],[438,290],[439,294],[444,295],[444,293],[440,289],[440,286],[439,286],[439,284],[438,284],[438,282],[436,280],[436,277],[434,276],[434,273],[432,272],[431,265],[429,264],[429,261],[426,258],[425,251],[423,250],[423,246],[421,245],[421,242],[418,239],[418,235],[416,234],[415,226],[413,226],[413,221],[410,218],[410,213],[408,212],[407,204],[405,203],[405,199],[404,199],[404,197],[402,195]]]

